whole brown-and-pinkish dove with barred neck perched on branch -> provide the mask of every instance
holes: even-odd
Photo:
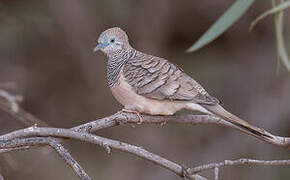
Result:
[[[107,61],[107,82],[123,111],[140,114],[174,115],[181,109],[222,118],[258,137],[270,138],[228,112],[197,81],[167,59],[134,49],[125,31],[113,27],[100,34],[94,52],[103,52]]]

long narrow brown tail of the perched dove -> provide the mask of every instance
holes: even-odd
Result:
[[[217,105],[202,105],[202,106],[212,114],[221,117],[226,121],[229,121],[230,123],[250,132],[251,134],[272,138],[271,136],[267,135],[263,129],[255,127],[249,124],[248,122],[242,120],[241,118],[233,115],[232,113],[225,110],[221,105],[217,104]]]

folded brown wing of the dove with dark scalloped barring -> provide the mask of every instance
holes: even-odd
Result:
[[[136,53],[125,63],[122,72],[135,92],[148,98],[219,103],[182,69],[163,58]]]

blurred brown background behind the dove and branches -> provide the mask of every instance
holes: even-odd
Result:
[[[290,136],[290,78],[280,69],[273,17],[249,25],[271,8],[258,0],[224,35],[185,53],[232,0],[1,0],[0,82],[16,82],[24,109],[54,127],[69,128],[121,109],[106,83],[106,58],[93,53],[99,34],[119,26],[133,47],[167,58],[199,81],[229,111],[270,132]],[[290,40],[285,13],[285,41]],[[289,50],[290,51],[290,50]],[[288,51],[288,52],[289,52]],[[188,113],[188,112],[180,112]],[[3,134],[25,127],[0,111]],[[188,167],[238,158],[289,159],[289,151],[218,126],[137,125],[97,132]],[[179,179],[127,153],[83,142],[65,146],[92,179]],[[0,156],[5,180],[78,177],[53,151],[42,148]],[[213,172],[202,173],[213,179]],[[223,168],[221,179],[289,179],[290,167]]]

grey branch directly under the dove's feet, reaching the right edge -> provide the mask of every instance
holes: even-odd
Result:
[[[256,136],[254,134],[245,131],[244,129],[235,126],[228,121],[225,121],[221,118],[211,115],[173,115],[173,116],[151,116],[151,115],[141,115],[143,119],[143,123],[145,124],[166,124],[166,123],[174,123],[174,124],[191,124],[191,125],[204,125],[204,124],[214,124],[218,126],[228,127],[232,129],[236,129],[243,133],[249,134],[251,136],[255,136],[256,138],[270,143],[275,146],[289,148],[290,146],[290,138],[289,137],[281,137],[275,136],[264,130],[264,133],[271,138]],[[95,121],[76,126],[72,128],[75,131],[86,131],[86,132],[95,132],[97,130],[103,128],[114,127],[118,125],[123,125],[127,123],[137,124],[139,122],[139,117],[134,113],[125,113],[125,112],[117,112],[114,115],[97,119]]]

